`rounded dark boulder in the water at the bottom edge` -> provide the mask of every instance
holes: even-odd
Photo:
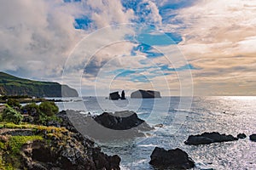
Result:
[[[189,169],[195,167],[195,162],[188,154],[178,148],[175,150],[165,150],[155,147],[150,158],[149,163],[151,165],[164,169]]]

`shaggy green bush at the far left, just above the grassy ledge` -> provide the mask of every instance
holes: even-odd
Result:
[[[3,110],[2,119],[5,122],[14,122],[15,124],[20,124],[23,116],[20,114],[20,112],[15,111],[15,109],[9,105],[6,105],[6,108]]]

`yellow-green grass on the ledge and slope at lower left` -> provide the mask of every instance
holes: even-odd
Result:
[[[9,129],[31,129],[32,131],[46,131],[48,138],[45,139],[43,133],[35,133],[32,136],[9,136],[7,141],[0,141],[0,170],[1,169],[17,169],[20,167],[20,149],[22,145],[35,140],[44,140],[46,144],[51,143],[52,138],[67,141],[69,136],[63,133],[68,132],[65,127],[46,127],[29,123],[21,123],[16,125],[12,122],[0,122],[0,128]],[[60,145],[64,145],[63,144]]]

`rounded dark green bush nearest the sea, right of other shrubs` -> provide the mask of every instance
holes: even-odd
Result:
[[[54,116],[59,112],[58,106],[55,105],[55,102],[52,101],[44,101],[39,105],[39,109],[46,116]]]

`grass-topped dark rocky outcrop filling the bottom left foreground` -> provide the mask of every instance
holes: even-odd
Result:
[[[65,117],[63,113],[61,116]],[[119,156],[108,156],[94,142],[84,138],[75,128],[65,120],[67,127],[44,127],[33,125],[26,129],[1,128],[0,141],[7,146],[0,150],[0,156],[6,163],[14,164],[15,169],[48,170],[48,169],[70,169],[70,170],[119,170]],[[14,146],[9,146],[9,140],[19,137],[19,144],[15,144],[18,151],[13,154]],[[37,139],[32,139],[37,137]],[[39,138],[38,138],[39,137]],[[21,144],[21,142],[23,144]],[[5,149],[4,149],[5,148]],[[11,153],[11,154],[9,154]],[[16,156],[16,157],[15,157]],[[15,163],[18,161],[19,163]],[[2,162],[2,161],[1,161]]]

